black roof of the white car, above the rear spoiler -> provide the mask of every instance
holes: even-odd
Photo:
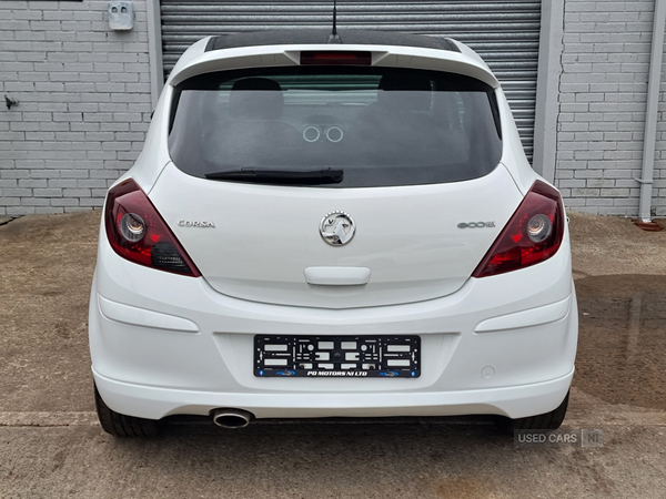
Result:
[[[223,49],[238,49],[241,47],[261,47],[261,45],[292,45],[292,44],[317,44],[326,43],[329,34],[327,29],[304,29],[304,30],[263,30],[246,33],[232,33],[212,37],[205,52]],[[425,37],[423,34],[405,34],[395,31],[365,31],[365,30],[339,30],[337,34],[342,40],[342,45],[394,45],[394,47],[415,47],[421,49],[437,49],[452,52],[460,52],[454,41],[446,37],[435,35]]]

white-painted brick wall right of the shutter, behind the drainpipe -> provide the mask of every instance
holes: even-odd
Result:
[[[653,12],[654,0],[565,2],[555,177],[572,210],[638,214]],[[656,157],[666,160],[662,115],[657,141]],[[663,161],[654,187],[653,206],[664,216]]]

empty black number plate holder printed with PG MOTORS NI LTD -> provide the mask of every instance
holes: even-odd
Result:
[[[254,336],[254,376],[417,378],[418,336]]]

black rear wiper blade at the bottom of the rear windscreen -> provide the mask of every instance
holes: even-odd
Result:
[[[206,173],[211,180],[230,180],[238,182],[260,182],[273,184],[339,184],[344,177],[340,169],[312,169],[312,170],[264,170],[241,167]]]

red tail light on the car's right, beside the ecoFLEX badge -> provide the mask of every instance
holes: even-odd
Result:
[[[472,275],[487,277],[544,262],[557,253],[563,235],[559,193],[536,181]]]

